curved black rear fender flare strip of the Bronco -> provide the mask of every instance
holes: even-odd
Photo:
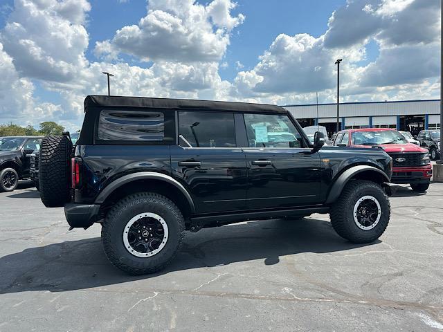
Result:
[[[136,172],[132,174],[127,174],[125,176],[122,176],[120,178],[117,178],[113,182],[109,183],[100,194],[98,194],[96,201],[94,203],[96,204],[102,204],[105,202],[107,197],[114,192],[114,190],[118,189],[118,187],[121,187],[122,185],[125,185],[127,183],[138,181],[138,180],[159,180],[164,181],[166,183],[169,183],[170,185],[173,185],[176,187],[183,196],[186,197],[186,200],[188,201],[190,211],[192,213],[195,213],[195,205],[194,201],[192,201],[192,197],[190,196],[188,190],[186,190],[179,181],[175,180],[171,176],[168,176],[166,174],[162,173],[156,173],[156,172]]]

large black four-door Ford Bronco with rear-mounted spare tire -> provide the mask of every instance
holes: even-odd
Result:
[[[382,150],[309,142],[273,105],[89,95],[73,149],[48,136],[39,156],[47,207],[71,228],[102,225],[112,264],[153,273],[186,230],[246,220],[329,213],[343,238],[367,243],[388,225]]]

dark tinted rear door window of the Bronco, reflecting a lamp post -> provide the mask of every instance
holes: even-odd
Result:
[[[235,147],[234,114],[179,112],[179,134],[192,147]]]

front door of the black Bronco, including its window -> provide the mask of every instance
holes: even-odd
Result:
[[[320,203],[320,156],[312,154],[289,116],[244,114],[248,208]]]

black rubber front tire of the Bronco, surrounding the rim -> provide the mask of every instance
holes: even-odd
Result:
[[[363,196],[372,196],[379,202],[380,219],[370,230],[363,230],[354,221],[354,206]],[[390,219],[390,203],[383,188],[372,181],[355,180],[345,185],[340,197],[332,205],[330,218],[338,235],[354,243],[375,241],[386,230]]]

